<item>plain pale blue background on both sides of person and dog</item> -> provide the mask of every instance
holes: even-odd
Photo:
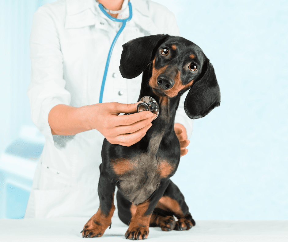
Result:
[[[81,1],[81,0],[80,0]],[[0,1],[0,151],[32,124],[32,14],[44,2]],[[196,220],[288,219],[287,1],[161,1],[214,65],[221,105],[194,121],[172,180]],[[161,14],[161,9],[159,9]]]

